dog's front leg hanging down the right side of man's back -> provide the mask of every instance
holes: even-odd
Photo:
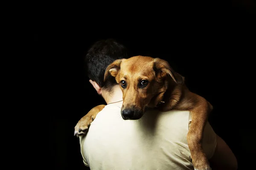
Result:
[[[211,170],[202,147],[203,131],[211,109],[212,106],[204,99],[201,100],[200,105],[190,111],[192,122],[187,134],[187,142],[195,170]]]

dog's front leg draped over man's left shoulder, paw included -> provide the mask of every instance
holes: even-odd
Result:
[[[105,105],[98,105],[92,108],[84,117],[82,117],[79,122],[76,124],[74,136],[84,135],[87,129],[89,128],[91,122],[95,119],[96,115],[102,111]]]

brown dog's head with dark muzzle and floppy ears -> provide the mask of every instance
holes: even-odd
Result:
[[[118,59],[105,71],[119,83],[123,93],[123,119],[140,119],[145,108],[155,107],[171,84],[183,84],[183,77],[160,58],[135,56]]]

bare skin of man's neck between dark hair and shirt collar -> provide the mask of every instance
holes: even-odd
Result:
[[[111,94],[108,91],[102,91],[102,97],[107,104],[119,102],[122,100],[122,90],[119,85],[115,85]]]

